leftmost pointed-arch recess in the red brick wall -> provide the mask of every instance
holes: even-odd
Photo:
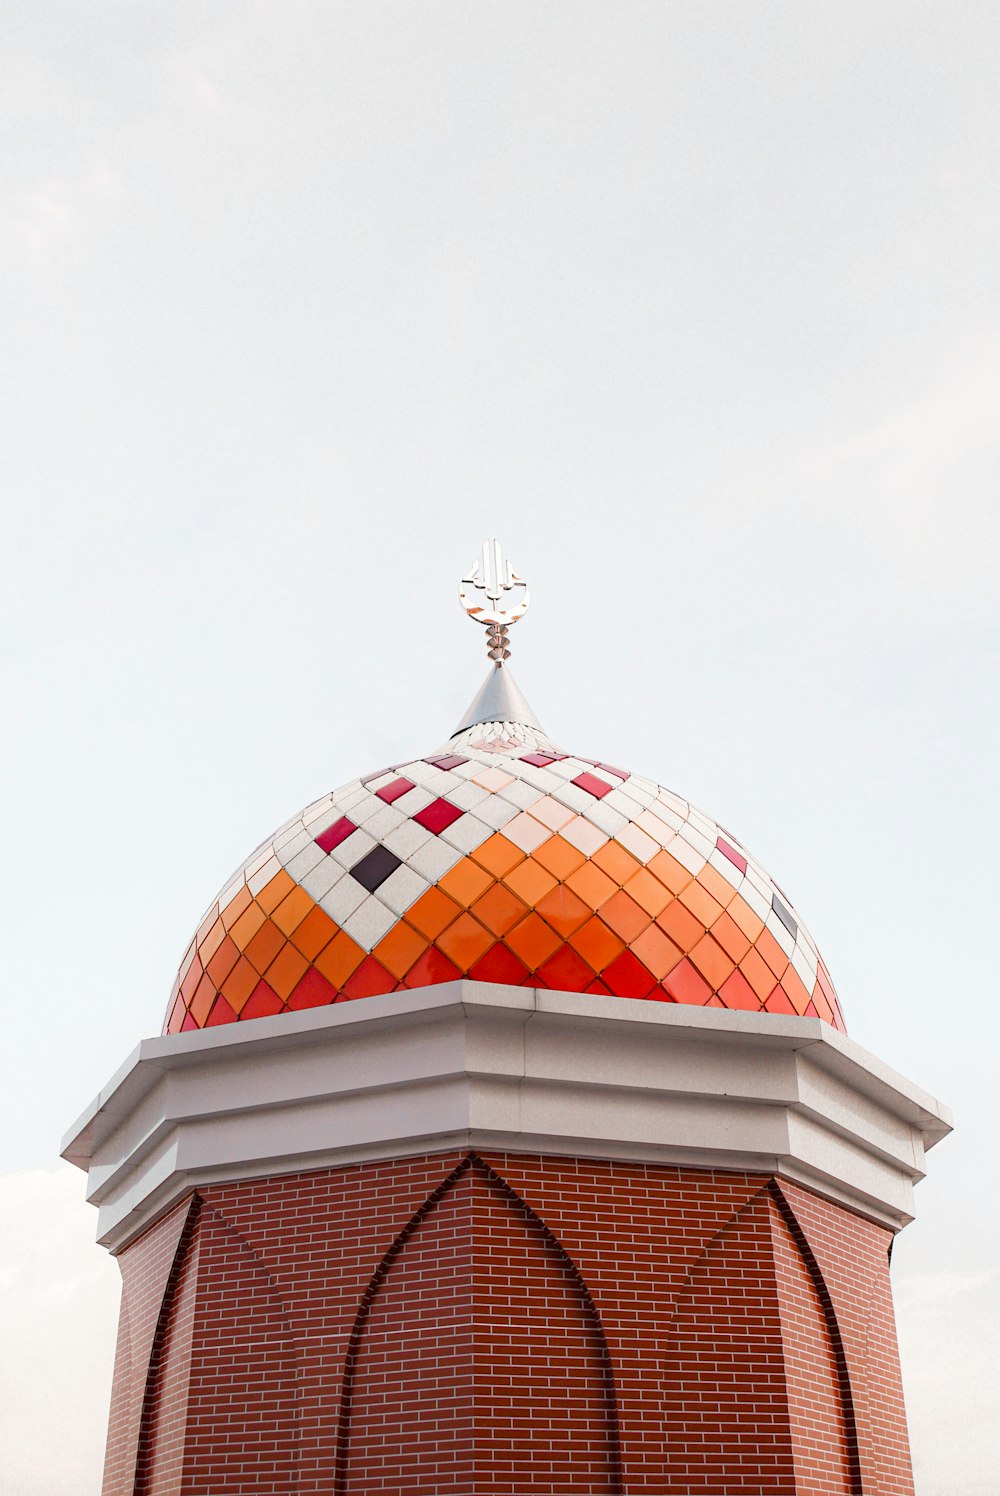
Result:
[[[202,1204],[147,1388],[135,1496],[292,1496],[298,1358],[257,1254]]]

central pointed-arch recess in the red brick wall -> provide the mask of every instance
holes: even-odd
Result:
[[[621,1490],[600,1318],[552,1233],[469,1153],[385,1254],[350,1334],[337,1493]]]

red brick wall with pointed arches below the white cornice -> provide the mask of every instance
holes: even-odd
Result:
[[[452,1152],[202,1200],[105,1496],[912,1492],[889,1233],[804,1189]]]

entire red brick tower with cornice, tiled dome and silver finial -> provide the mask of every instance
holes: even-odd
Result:
[[[906,1496],[888,1257],[948,1116],[729,832],[546,738],[497,549],[463,597],[458,732],[244,863],[69,1134],[105,1496]]]

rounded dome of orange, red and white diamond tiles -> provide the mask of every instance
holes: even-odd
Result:
[[[516,720],[352,779],[249,857],[184,956],[166,1032],[457,977],[843,1031],[816,945],[735,836],[558,751],[501,673]]]

